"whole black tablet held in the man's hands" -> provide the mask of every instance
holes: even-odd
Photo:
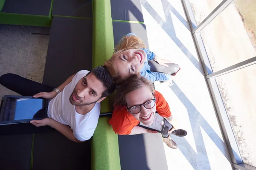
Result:
[[[32,96],[3,96],[0,107],[0,125],[24,123],[47,117],[49,99]]]

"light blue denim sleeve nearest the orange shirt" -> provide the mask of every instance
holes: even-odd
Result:
[[[169,80],[171,78],[171,74],[160,73],[160,72],[152,72],[152,71],[150,71],[150,72],[144,71],[140,75],[145,77],[146,79],[150,80],[151,82],[166,81],[166,80]]]

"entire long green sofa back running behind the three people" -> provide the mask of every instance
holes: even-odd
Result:
[[[93,68],[103,65],[114,50],[110,0],[93,1]],[[112,112],[110,97],[101,102],[101,113]],[[108,123],[109,117],[100,117],[91,139],[91,169],[121,170],[118,137]]]

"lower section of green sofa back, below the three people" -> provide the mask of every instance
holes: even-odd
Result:
[[[109,125],[110,117],[100,117],[91,141],[92,170],[121,170],[117,135]]]

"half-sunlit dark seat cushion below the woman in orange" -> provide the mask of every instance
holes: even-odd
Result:
[[[122,170],[168,170],[160,134],[119,135]]]

